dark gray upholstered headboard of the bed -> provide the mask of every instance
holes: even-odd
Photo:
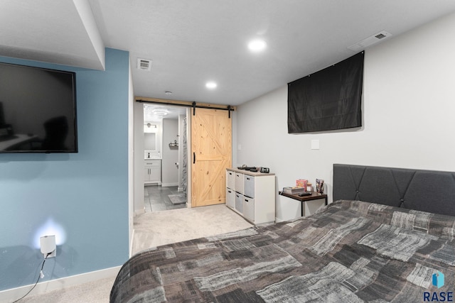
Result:
[[[333,165],[333,201],[360,200],[455,216],[455,172]]]

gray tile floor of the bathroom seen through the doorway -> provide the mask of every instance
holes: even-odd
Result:
[[[176,186],[161,187],[160,185],[147,185],[144,187],[145,212],[166,211],[169,209],[186,208],[186,203],[172,204],[168,194],[181,194]]]

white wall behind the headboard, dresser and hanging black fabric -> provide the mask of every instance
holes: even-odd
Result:
[[[233,166],[270,167],[277,191],[324,179],[329,202],[333,163],[455,171],[454,28],[451,14],[365,51],[360,130],[288,134],[287,86],[238,106]],[[277,194],[277,220],[299,214]]]

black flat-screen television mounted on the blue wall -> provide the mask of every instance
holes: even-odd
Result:
[[[0,153],[77,153],[75,81],[0,62]]]

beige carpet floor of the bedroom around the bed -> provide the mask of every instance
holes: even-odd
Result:
[[[225,204],[192,209],[175,209],[145,213],[134,218],[133,254],[179,241],[191,240],[248,228],[248,223]],[[106,303],[115,277],[55,290],[33,296],[23,303]]]

